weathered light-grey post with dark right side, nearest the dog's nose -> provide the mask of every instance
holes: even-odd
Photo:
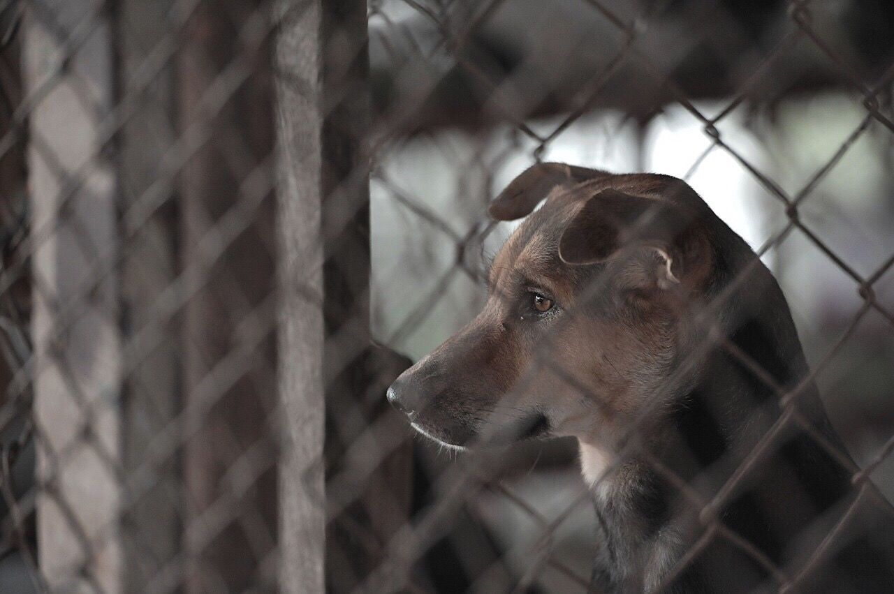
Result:
[[[279,8],[292,12],[276,50],[281,579],[288,591],[322,591],[325,580],[349,591],[380,561],[376,548],[409,506],[403,449],[350,485],[356,493],[333,494],[355,503],[329,525],[324,519],[324,459],[338,471],[346,448],[387,410],[384,389],[406,366],[371,347],[369,333],[367,3],[283,0]]]

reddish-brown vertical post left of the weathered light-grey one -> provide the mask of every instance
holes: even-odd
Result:
[[[183,454],[190,591],[268,590],[275,580],[268,18],[260,0],[200,2],[177,57],[179,132],[207,135],[180,188],[182,266],[200,277],[183,312],[185,424],[198,426]],[[221,229],[234,226],[240,231],[223,238]],[[215,246],[221,253],[205,262]]]

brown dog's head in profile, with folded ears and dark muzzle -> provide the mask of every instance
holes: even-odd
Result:
[[[527,220],[493,261],[483,311],[388,399],[451,446],[610,441],[686,355],[714,257],[703,207],[667,176],[531,167],[491,205]]]

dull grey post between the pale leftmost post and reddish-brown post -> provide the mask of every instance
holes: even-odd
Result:
[[[164,172],[164,155],[176,141],[173,67],[165,63],[151,79],[145,75],[150,54],[171,33],[166,15],[173,0],[119,0],[114,11],[114,40],[121,100],[132,114],[118,134],[121,209],[139,209],[149,188]],[[164,173],[163,173],[164,175]],[[177,275],[178,208],[166,197],[139,229],[125,230],[122,245],[122,332],[125,340],[147,326],[156,330],[148,352],[125,349],[122,385],[122,459],[128,477],[152,456],[153,439],[173,422],[181,405],[181,342],[175,323],[157,320],[156,302]],[[126,227],[125,222],[125,227]],[[125,591],[144,591],[179,552],[181,477],[176,456],[159,461],[153,484],[124,502],[122,523]]]

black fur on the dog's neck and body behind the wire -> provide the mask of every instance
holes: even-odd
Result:
[[[725,224],[716,220],[711,227],[717,268],[710,297],[720,296],[739,275],[749,276],[739,289],[730,291],[723,307],[724,330],[735,349],[714,348],[695,387],[677,399],[665,431],[651,442],[652,454],[706,500],[754,455],[757,443],[782,416],[777,390],[789,392],[807,376],[797,332],[776,281]],[[752,371],[752,364],[771,381]],[[799,414],[831,447],[848,456],[813,383],[802,388],[794,405]],[[622,565],[634,558],[625,550],[645,546],[659,531],[674,529],[682,546],[671,556],[679,560],[711,523],[703,523],[700,507],[682,497],[649,464],[637,459],[626,464],[626,472],[637,476],[628,481],[628,491],[611,500],[595,497],[597,539],[603,550],[595,560],[594,591],[643,590],[648,576],[631,574]],[[846,529],[831,542],[828,554],[802,576],[798,591],[894,591],[894,510],[873,485],[864,488],[867,492]],[[848,511],[858,491],[851,482],[851,469],[790,420],[717,511],[716,521],[792,579]],[[620,509],[614,501],[624,498],[632,503]],[[760,562],[721,535],[715,535],[666,585],[672,592],[779,589]]]

